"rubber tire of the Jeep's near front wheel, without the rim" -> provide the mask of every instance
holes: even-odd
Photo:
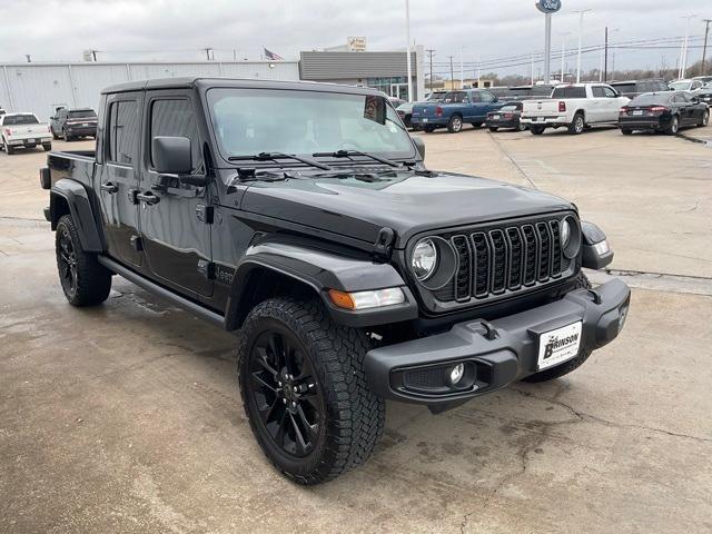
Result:
[[[326,407],[322,437],[303,458],[288,457],[275,444],[253,400],[248,358],[260,334],[275,324],[304,347]],[[369,348],[363,330],[334,324],[317,300],[270,298],[248,315],[237,356],[243,406],[263,452],[288,478],[304,485],[319,484],[363,464],[373,452],[384,429],[385,402],[366,383],[364,357]]]

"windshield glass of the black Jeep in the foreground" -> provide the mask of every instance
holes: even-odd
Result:
[[[207,93],[224,156],[360,150],[389,158],[415,150],[400,119],[376,95],[215,88]]]

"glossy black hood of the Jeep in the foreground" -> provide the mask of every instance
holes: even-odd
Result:
[[[403,248],[422,231],[560,211],[572,205],[502,181],[407,171],[375,182],[355,177],[257,181],[247,189],[241,209],[368,243],[388,227],[396,233],[396,248]]]

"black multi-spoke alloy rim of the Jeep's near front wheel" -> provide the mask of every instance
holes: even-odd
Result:
[[[248,373],[248,402],[273,445],[288,457],[308,456],[324,438],[326,407],[305,347],[273,324],[254,340]]]

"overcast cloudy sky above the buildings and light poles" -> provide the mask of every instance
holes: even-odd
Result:
[[[563,32],[571,32],[566,48],[577,47],[577,9],[593,10],[585,16],[584,46],[602,43],[605,26],[617,29],[611,33],[613,42],[681,37],[683,17],[696,14],[691,21],[696,39],[691,41],[689,61],[694,62],[702,56],[701,19],[712,18],[711,0],[562,3],[553,17],[555,53]],[[404,0],[0,0],[0,61],[26,61],[26,53],[32,61],[78,61],[85,49],[99,50],[100,61],[199,60],[205,47],[216,50],[216,60],[231,60],[233,50],[238,59],[260,59],[263,47],[296,60],[300,50],[343,44],[348,36],[366,37],[369,50],[389,50],[405,46],[404,4]],[[444,65],[449,55],[455,56],[457,70],[461,47],[469,65],[477,56],[485,62],[542,51],[544,16],[534,0],[411,0],[411,32],[416,43],[436,49],[435,61],[442,65],[436,63],[435,71],[448,70]],[[679,41],[655,46],[676,47]],[[679,52],[619,49],[615,55],[616,68],[655,68],[663,56],[668,67],[674,67]],[[555,61],[553,70],[558,68]],[[568,62],[573,68],[575,58]],[[584,55],[584,68],[599,65],[597,51]],[[483,70],[526,75],[528,67]]]

